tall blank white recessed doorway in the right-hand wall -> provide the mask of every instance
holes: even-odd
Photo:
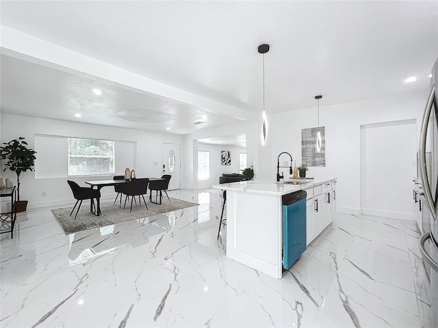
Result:
[[[361,212],[412,220],[416,120],[361,126]]]

